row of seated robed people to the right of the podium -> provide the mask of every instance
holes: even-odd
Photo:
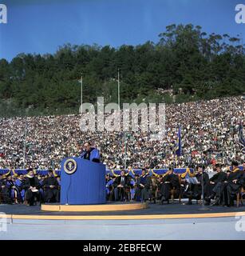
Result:
[[[206,205],[232,206],[235,196],[245,187],[245,164],[243,170],[239,170],[238,162],[232,162],[231,170],[222,171],[222,166],[215,165],[216,174],[209,178],[204,171],[204,166],[197,166],[195,174],[186,177],[174,174],[170,168],[168,173],[162,176],[148,176],[146,170],[141,176],[132,178],[125,174],[124,170],[117,177],[106,177],[107,200],[109,201],[136,201],[159,200],[162,204],[169,202],[171,198],[188,198],[188,204],[192,200],[202,198]],[[204,186],[202,186],[202,182]]]

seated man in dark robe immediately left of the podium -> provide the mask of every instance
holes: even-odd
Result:
[[[44,190],[44,202],[59,202],[60,193],[58,190],[59,183],[57,178],[53,176],[53,170],[49,170],[48,178],[43,181],[42,187]]]

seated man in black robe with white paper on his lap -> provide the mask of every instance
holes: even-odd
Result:
[[[26,190],[24,202],[26,206],[33,206],[40,202],[39,182],[32,168],[28,169],[23,188]]]

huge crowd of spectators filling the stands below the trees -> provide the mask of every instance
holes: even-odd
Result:
[[[234,158],[242,162],[238,131],[244,106],[241,97],[167,105],[166,136],[160,141],[151,141],[148,132],[140,131],[81,132],[81,114],[0,118],[0,169],[59,170],[61,159],[80,154],[85,141],[97,146],[109,169],[121,169],[125,156],[127,168],[228,165]],[[179,126],[183,155],[176,158]]]

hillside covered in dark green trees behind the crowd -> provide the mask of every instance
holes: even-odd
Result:
[[[228,34],[191,24],[167,26],[159,42],[119,48],[66,44],[55,54],[18,54],[0,60],[0,115],[78,112],[84,102],[184,102],[245,91],[245,49]]]

